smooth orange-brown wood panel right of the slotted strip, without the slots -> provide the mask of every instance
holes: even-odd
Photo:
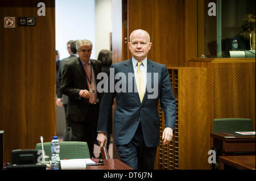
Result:
[[[179,70],[179,169],[209,169],[208,71]]]

